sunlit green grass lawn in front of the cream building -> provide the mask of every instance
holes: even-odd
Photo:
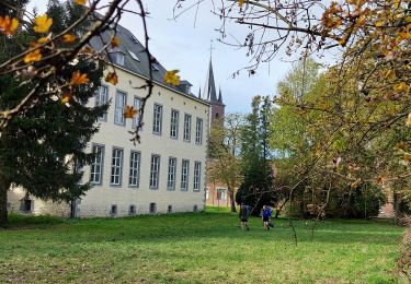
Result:
[[[396,282],[403,228],[386,222],[287,220],[241,232],[238,215],[203,213],[130,218],[12,216],[0,230],[0,283],[341,283]]]

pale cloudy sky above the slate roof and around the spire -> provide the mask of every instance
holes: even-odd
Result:
[[[44,12],[45,2],[35,2],[39,12]],[[128,9],[138,11],[133,4]],[[221,87],[222,99],[227,113],[248,113],[251,98],[255,95],[274,95],[276,83],[284,79],[292,63],[287,57],[277,57],[269,64],[263,64],[258,72],[249,76],[247,71],[232,79],[232,73],[249,66],[247,50],[236,49],[217,40],[219,33],[215,29],[221,25],[218,16],[214,15],[210,1],[204,1],[195,21],[195,10],[190,10],[175,21],[173,7],[175,0],[145,0],[150,12],[148,32],[150,51],[165,69],[179,69],[182,79],[193,84],[192,92],[198,94],[204,88],[206,72],[210,58],[210,40],[213,40],[213,67],[216,87]],[[142,42],[141,19],[132,13],[123,15],[121,24],[132,31]],[[195,26],[194,26],[195,24]],[[228,39],[237,38],[244,42],[247,26],[229,25]]]

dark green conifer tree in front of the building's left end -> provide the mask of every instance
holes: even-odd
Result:
[[[24,5],[27,1],[13,1]],[[4,10],[4,8],[2,8]],[[70,2],[49,1],[47,14],[53,17],[53,33],[62,32],[83,13],[84,8]],[[13,14],[13,11],[3,11]],[[30,25],[30,24],[27,24]],[[84,22],[76,33],[87,31]],[[0,35],[0,61],[13,57],[35,42],[38,35],[32,28],[23,28],[18,36]],[[67,43],[57,43],[68,45]],[[87,73],[88,83],[72,86],[69,102],[50,93],[53,85],[62,85],[72,80],[76,71]],[[24,70],[26,74],[30,70]],[[103,75],[103,62],[80,56],[72,64],[64,67],[61,75],[44,84],[42,99],[35,108],[14,117],[0,138],[0,226],[8,223],[7,193],[11,186],[21,186],[27,194],[44,200],[66,201],[83,194],[89,184],[80,185],[82,166],[90,164],[91,154],[83,152],[88,141],[98,131],[98,118],[107,106],[88,107]],[[21,85],[13,75],[0,76],[0,109],[14,106],[33,86]]]

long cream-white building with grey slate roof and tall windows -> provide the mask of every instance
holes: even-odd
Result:
[[[125,119],[124,108],[139,108],[146,96],[147,91],[135,86],[145,84],[148,62],[144,46],[128,29],[118,26],[117,36],[119,47],[110,57],[116,64],[118,84],[104,82],[95,100],[89,102],[111,102],[99,121],[100,131],[85,150],[96,153],[93,164],[83,168],[83,181],[91,181],[93,188],[72,204],[26,199],[23,189],[12,188],[8,194],[10,212],[88,217],[204,210],[212,100],[221,106],[221,95],[218,99],[215,94],[194,96],[187,81],[176,87],[167,85],[165,69],[159,63],[151,66],[156,84],[146,104],[141,143],[134,145],[128,131],[139,118]],[[110,42],[111,35],[103,38]],[[102,45],[101,39],[92,42],[96,49]],[[210,83],[215,93],[214,78],[207,78],[206,84]]]

